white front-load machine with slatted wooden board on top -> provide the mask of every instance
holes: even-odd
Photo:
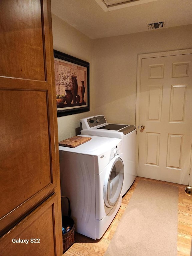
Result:
[[[76,232],[100,239],[122,202],[122,140],[80,136],[91,140],[76,148],[59,146],[61,195],[70,199]]]

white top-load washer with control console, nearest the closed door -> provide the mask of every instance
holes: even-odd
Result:
[[[136,177],[136,126],[107,123],[103,115],[81,119],[81,134],[122,139],[124,182],[122,195],[128,191]]]

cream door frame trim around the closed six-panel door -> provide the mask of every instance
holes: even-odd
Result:
[[[167,52],[157,52],[157,53],[144,53],[144,54],[138,54],[137,55],[137,91],[136,91],[136,116],[135,116],[135,125],[137,129],[139,130],[139,109],[140,109],[140,85],[141,85],[141,64],[142,59],[148,59],[148,58],[156,58],[156,57],[165,57],[165,56],[175,56],[175,55],[183,55],[183,54],[192,54],[192,49],[184,49],[184,50],[174,50],[174,51],[167,51]],[[136,149],[137,149],[137,155],[136,155],[136,173],[138,176],[138,164],[139,164],[139,131],[137,132],[136,136]],[[191,156],[192,158],[192,156]],[[192,159],[191,159],[192,163]],[[190,180],[192,183],[192,175],[190,175]]]

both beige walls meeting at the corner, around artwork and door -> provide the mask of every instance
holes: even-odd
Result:
[[[59,141],[83,117],[135,124],[137,55],[192,48],[192,25],[91,40],[52,14],[53,47],[90,63],[90,111],[58,118]]]

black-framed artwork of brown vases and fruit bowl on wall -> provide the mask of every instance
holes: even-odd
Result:
[[[89,111],[89,63],[54,50],[57,116]]]

